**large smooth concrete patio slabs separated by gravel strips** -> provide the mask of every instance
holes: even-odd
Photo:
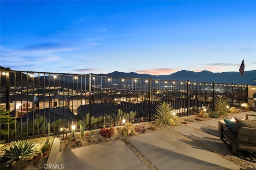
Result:
[[[250,112],[232,116],[244,118],[245,114],[250,114]],[[251,114],[256,114],[256,112],[251,112]],[[218,120],[220,119],[192,123],[172,129],[208,146],[230,153],[218,137]],[[159,170],[243,170],[242,167],[165,130],[126,139]],[[148,169],[122,140],[60,152],[57,164],[64,170]],[[255,169],[256,163],[250,162],[247,170]]]

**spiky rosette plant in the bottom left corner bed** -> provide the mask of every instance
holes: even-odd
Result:
[[[36,150],[33,147],[34,143],[31,140],[14,140],[10,142],[10,150],[5,149],[4,157],[9,160],[8,163],[29,158],[36,154]]]

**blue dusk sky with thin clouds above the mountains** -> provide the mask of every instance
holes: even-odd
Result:
[[[256,69],[256,1],[0,1],[2,67],[169,75]]]

